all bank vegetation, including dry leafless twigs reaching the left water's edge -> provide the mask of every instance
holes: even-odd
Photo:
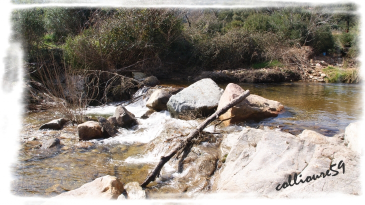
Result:
[[[11,40],[22,42],[30,84],[40,82],[53,107],[66,110],[63,115],[81,107],[80,117],[69,117],[80,122],[89,103],[130,97],[129,90],[140,85],[125,77],[131,70],[159,78],[206,71],[222,79],[228,75],[217,70],[229,70],[241,82],[272,82],[304,79],[312,69],[309,59],[322,52],[354,64],[356,9],[351,3],[237,9],[33,7],[12,12]],[[326,69],[329,82],[359,81],[356,69]],[[42,101],[29,92],[28,101]]]

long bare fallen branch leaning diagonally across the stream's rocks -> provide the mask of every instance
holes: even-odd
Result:
[[[221,114],[225,113],[229,108],[234,106],[235,104],[242,101],[244,98],[246,98],[249,95],[249,90],[247,89],[242,94],[240,94],[238,97],[234,98],[231,102],[226,104],[224,107],[222,107],[219,110],[216,110],[212,115],[210,115],[208,118],[206,118],[198,127],[196,127],[192,132],[190,132],[189,135],[186,136],[184,140],[182,140],[179,144],[177,144],[167,155],[161,156],[161,159],[159,160],[158,164],[154,169],[148,174],[146,179],[143,181],[143,183],[140,184],[140,186],[145,187],[148,185],[149,182],[154,181],[156,177],[159,176],[159,172],[161,171],[161,168],[163,165],[172,158],[173,155],[175,155],[180,149],[183,149],[187,143],[189,143],[193,138],[199,135],[199,132],[201,132],[210,122],[212,122],[214,119],[218,118]]]

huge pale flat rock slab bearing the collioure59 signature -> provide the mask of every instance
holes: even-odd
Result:
[[[221,145],[228,147],[228,155],[215,175],[213,190],[218,193],[269,198],[361,193],[360,154],[344,145],[316,144],[254,128],[228,135]]]

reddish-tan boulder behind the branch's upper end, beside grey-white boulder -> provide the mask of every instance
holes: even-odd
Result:
[[[229,83],[219,99],[217,109],[224,107],[227,103],[243,92],[244,90],[239,85]],[[223,124],[228,126],[230,124],[239,123],[245,119],[277,116],[283,108],[284,106],[278,101],[250,94],[244,100],[228,109],[228,111],[224,114],[220,115],[219,118],[227,119],[234,116],[231,119],[223,121]]]

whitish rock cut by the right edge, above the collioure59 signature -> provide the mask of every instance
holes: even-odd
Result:
[[[353,122],[346,126],[344,131],[344,144],[351,150],[361,154],[362,143],[359,129],[361,122]]]

